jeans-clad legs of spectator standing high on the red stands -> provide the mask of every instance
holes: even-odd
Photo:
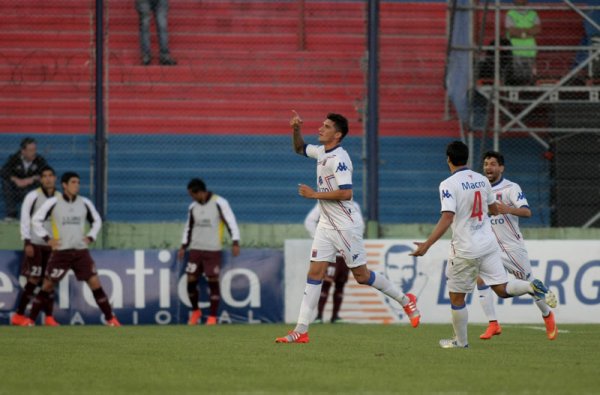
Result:
[[[142,50],[142,64],[147,66],[152,62],[150,50],[150,19],[154,14],[156,31],[158,33],[158,46],[160,48],[159,62],[165,66],[177,64],[169,51],[169,27],[167,14],[169,13],[169,0],[135,0],[135,9],[140,17],[140,47]]]

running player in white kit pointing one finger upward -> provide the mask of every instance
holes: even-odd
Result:
[[[370,285],[398,301],[410,318],[411,325],[419,325],[420,314],[416,297],[404,295],[382,274],[367,269],[365,245],[358,217],[361,215],[352,204],[352,161],[340,145],[348,134],[348,120],[330,113],[319,128],[319,143],[305,144],[302,138],[302,120],[298,113],[290,120],[293,130],[293,147],[297,154],[317,161],[317,186],[313,190],[300,184],[298,194],[306,199],[317,199],[321,216],[313,239],[310,266],[300,305],[298,323],[287,336],[275,339],[277,343],[308,343],[308,325],[317,307],[321,285],[330,262],[340,254],[359,284]]]

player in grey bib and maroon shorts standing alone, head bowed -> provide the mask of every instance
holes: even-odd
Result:
[[[233,256],[240,254],[240,231],[227,200],[207,191],[204,181],[199,178],[192,179],[188,184],[188,193],[194,201],[188,208],[181,248],[177,253],[178,259],[182,260],[185,250],[190,248],[185,268],[188,296],[192,304],[188,324],[197,325],[202,316],[198,308],[198,279],[204,274],[210,290],[210,313],[206,325],[215,325],[221,301],[219,272],[222,260],[223,225],[227,227],[231,236]]]

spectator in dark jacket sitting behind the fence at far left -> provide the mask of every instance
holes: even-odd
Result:
[[[46,159],[37,153],[37,144],[31,137],[21,140],[20,149],[2,166],[2,189],[6,207],[6,221],[17,219],[19,205],[25,195],[39,185],[40,170]]]

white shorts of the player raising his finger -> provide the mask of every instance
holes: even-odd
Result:
[[[325,229],[317,226],[310,251],[312,262],[335,262],[340,254],[346,266],[354,268],[367,264],[367,253],[360,228],[345,230]]]

